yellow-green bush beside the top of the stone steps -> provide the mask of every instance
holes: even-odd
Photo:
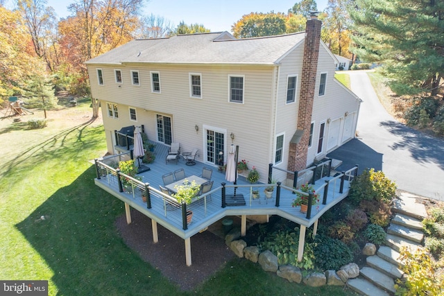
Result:
[[[350,186],[348,200],[359,204],[361,200],[376,200],[390,204],[396,193],[396,184],[391,182],[382,171],[366,169]]]

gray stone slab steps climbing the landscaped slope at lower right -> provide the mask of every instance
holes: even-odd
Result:
[[[403,275],[400,248],[416,250],[422,246],[421,220],[427,216],[424,204],[417,203],[415,195],[402,193],[392,212],[396,214],[387,229],[386,245],[367,257],[366,266],[359,270],[360,277],[347,281],[347,286],[359,295],[394,295],[396,279]]]

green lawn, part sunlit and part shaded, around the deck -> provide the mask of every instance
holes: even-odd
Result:
[[[94,185],[89,161],[106,146],[103,127],[81,114],[89,103],[58,112],[78,119],[49,112],[42,130],[0,122],[0,279],[47,279],[49,295],[352,295],[289,283],[245,259],[178,290],[123,243],[114,227],[123,203]]]

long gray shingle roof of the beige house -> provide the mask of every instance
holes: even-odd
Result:
[[[125,62],[275,64],[300,44],[305,33],[239,40],[227,40],[227,36],[230,35],[225,32],[133,40],[87,61],[87,64]]]

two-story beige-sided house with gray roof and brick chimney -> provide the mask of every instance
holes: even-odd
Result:
[[[355,136],[361,102],[334,78],[336,59],[320,34],[312,17],[300,33],[134,40],[89,60],[108,152],[117,153],[114,130],[143,124],[153,141],[198,148],[208,166],[219,155],[226,161],[234,143],[262,182],[270,163],[305,168]]]

